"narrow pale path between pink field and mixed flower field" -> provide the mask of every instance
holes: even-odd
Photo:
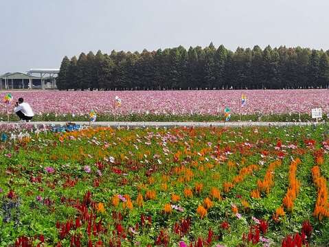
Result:
[[[34,121],[29,123],[32,126],[65,126],[67,122],[64,121]],[[74,124],[89,125],[87,121],[75,121]],[[0,122],[3,124],[21,124],[18,122]],[[315,124],[326,124],[316,122],[129,122],[129,121],[96,121],[91,123],[91,126],[111,126],[111,127],[172,127],[172,126],[186,126],[186,127],[244,127],[244,126],[310,126]]]

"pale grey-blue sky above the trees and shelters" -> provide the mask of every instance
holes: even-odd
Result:
[[[213,42],[329,49],[328,0],[1,0],[0,73],[64,56]]]

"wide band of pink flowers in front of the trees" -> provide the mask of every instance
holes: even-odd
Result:
[[[242,114],[263,115],[281,113],[310,113],[311,108],[329,111],[329,91],[309,90],[257,90],[257,91],[12,91],[13,104],[19,97],[30,103],[37,115],[86,115],[90,110],[98,114],[113,114],[114,99],[122,99],[117,113],[218,115],[226,106],[240,113],[241,94],[247,95],[247,106]],[[0,94],[3,98],[5,92]],[[5,113],[5,105],[1,113]]]

